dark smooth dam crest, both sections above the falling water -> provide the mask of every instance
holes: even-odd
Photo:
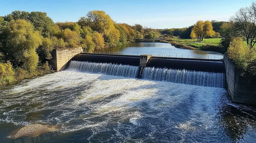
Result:
[[[81,53],[75,55],[72,61],[86,61],[93,63],[115,63],[140,66],[140,56],[130,55],[108,55],[108,54],[91,54]],[[186,69],[204,72],[224,73],[224,63],[220,60],[205,60],[205,59],[187,59],[187,58],[163,58],[151,57],[148,59],[147,67],[155,68],[171,68],[171,69]]]

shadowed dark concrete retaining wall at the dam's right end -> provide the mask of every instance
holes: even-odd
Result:
[[[234,62],[224,55],[226,69],[226,89],[233,102],[255,104],[251,80],[239,75]]]

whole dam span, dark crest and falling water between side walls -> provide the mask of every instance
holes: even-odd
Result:
[[[71,59],[66,68],[130,78],[225,87],[224,63],[219,60],[150,57],[143,63],[142,58],[145,56],[80,53]]]

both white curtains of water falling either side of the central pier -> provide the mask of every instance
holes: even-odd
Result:
[[[113,76],[137,78],[139,67],[111,63],[91,63],[71,61],[69,70],[87,73],[100,73]],[[224,88],[224,73],[199,72],[188,70],[174,70],[146,67],[142,72],[142,79],[168,81],[190,85]]]

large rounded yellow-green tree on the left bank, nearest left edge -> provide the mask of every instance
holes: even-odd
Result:
[[[3,29],[0,35],[0,51],[15,67],[34,70],[38,63],[35,49],[42,42],[38,31],[26,20],[14,20]]]

